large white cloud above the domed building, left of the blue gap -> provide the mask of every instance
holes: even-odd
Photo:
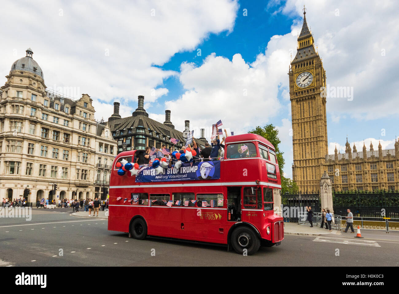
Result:
[[[3,1],[2,11],[9,13],[2,14],[0,26],[14,25],[2,30],[7,42],[0,76],[31,47],[48,85],[79,87],[103,102],[121,97],[136,102],[138,95],[154,102],[168,93],[157,88],[164,78],[177,73],[153,65],[195,49],[211,33],[231,31],[237,9],[231,0]]]

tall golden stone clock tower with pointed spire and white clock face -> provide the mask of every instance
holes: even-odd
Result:
[[[306,23],[304,8],[302,30],[295,58],[288,72],[292,110],[292,179],[306,193],[320,189],[323,163],[328,154],[326,72],[314,49],[314,39]]]

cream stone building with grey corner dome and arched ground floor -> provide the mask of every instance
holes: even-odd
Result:
[[[28,202],[94,198],[97,153],[113,158],[116,142],[108,126],[94,120],[89,95],[73,100],[46,90],[32,56],[28,49],[12,64],[0,90],[0,199],[19,198],[24,191]]]

